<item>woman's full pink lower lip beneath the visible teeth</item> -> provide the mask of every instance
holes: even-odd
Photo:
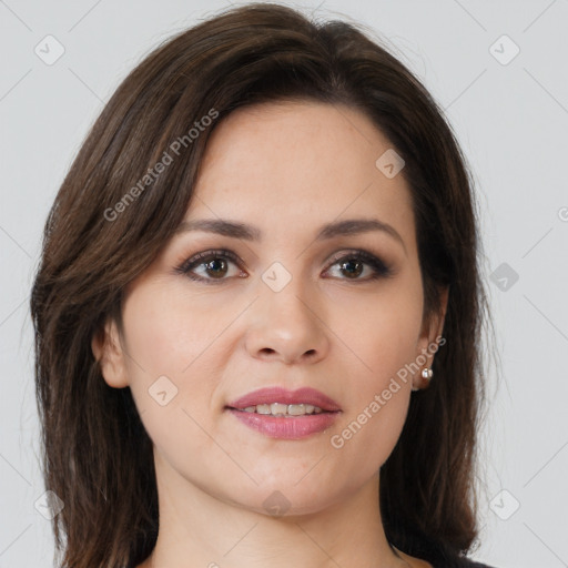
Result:
[[[266,414],[247,413],[229,408],[229,412],[253,430],[271,438],[302,439],[324,432],[336,420],[339,412],[321,413],[287,418]]]

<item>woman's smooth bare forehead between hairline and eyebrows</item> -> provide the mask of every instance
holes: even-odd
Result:
[[[290,233],[379,217],[414,240],[408,185],[376,161],[392,143],[358,110],[277,102],[231,113],[209,140],[186,219],[254,220]]]

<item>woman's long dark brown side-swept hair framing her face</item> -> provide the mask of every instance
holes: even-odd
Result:
[[[102,378],[91,341],[110,320],[122,329],[123,291],[182,222],[215,126],[235,109],[278,101],[357,109],[405,161],[425,317],[439,313],[440,287],[449,286],[446,344],[381,468],[378,506],[387,539],[409,555],[436,562],[466,555],[477,539],[488,310],[466,159],[432,95],[363,27],[253,3],[168,39],[130,72],[47,219],[31,314],[42,471],[64,504],[52,520],[61,566],[135,566],[155,545],[152,442],[130,388]],[[204,116],[216,120],[187,136]],[[183,141],[180,158],[155,175],[174,141]]]

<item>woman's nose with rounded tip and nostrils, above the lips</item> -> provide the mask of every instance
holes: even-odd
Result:
[[[329,348],[322,303],[306,300],[301,278],[280,292],[261,282],[260,297],[248,314],[245,346],[252,357],[286,365],[314,364]]]

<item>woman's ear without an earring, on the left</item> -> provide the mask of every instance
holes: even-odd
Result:
[[[124,349],[114,320],[110,318],[103,329],[91,339],[94,358],[100,362],[104,382],[113,388],[129,386]]]

